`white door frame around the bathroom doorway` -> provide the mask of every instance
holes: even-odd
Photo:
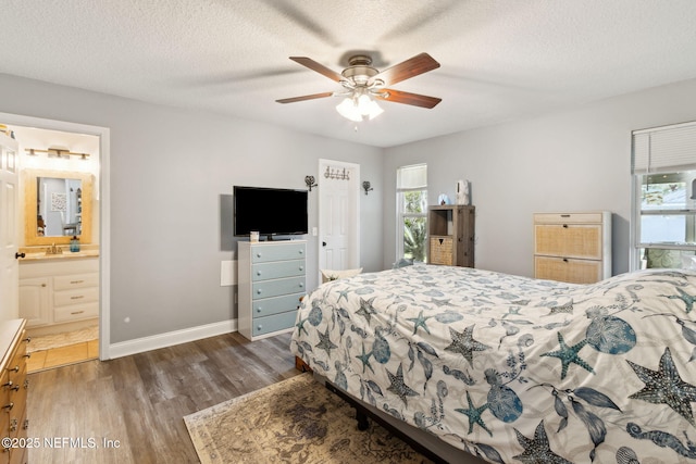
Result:
[[[64,133],[87,134],[99,137],[99,359],[111,359],[109,355],[110,339],[110,302],[111,302],[111,129],[65,121],[24,116],[20,114],[0,113],[4,124],[36,127],[38,129],[60,130]]]

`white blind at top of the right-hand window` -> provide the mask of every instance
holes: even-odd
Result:
[[[633,174],[696,170],[696,122],[633,131]]]

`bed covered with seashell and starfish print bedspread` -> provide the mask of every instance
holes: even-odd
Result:
[[[696,463],[696,273],[573,285],[413,265],[318,287],[291,350],[492,463]]]

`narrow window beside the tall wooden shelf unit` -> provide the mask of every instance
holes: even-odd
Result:
[[[396,172],[397,256],[425,262],[427,231],[427,165]]]

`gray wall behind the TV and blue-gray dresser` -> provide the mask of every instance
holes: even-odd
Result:
[[[0,112],[111,129],[111,342],[236,318],[220,286],[224,196],[235,184],[304,188],[319,159],[360,164],[382,178],[382,150],[275,126],[0,75]],[[382,268],[382,189],[361,195],[361,265]],[[318,226],[318,192],[310,227]],[[228,215],[227,215],[228,217]],[[308,287],[316,237],[307,237]],[[124,322],[125,317],[130,323]]]

